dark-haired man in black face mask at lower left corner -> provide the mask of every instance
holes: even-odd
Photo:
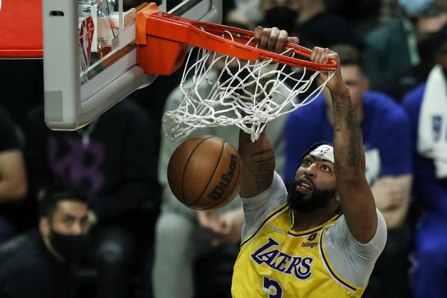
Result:
[[[39,229],[0,247],[0,297],[76,297],[74,268],[88,246],[87,199],[58,187],[43,194],[39,207]]]

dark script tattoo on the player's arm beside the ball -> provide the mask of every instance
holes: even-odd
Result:
[[[247,167],[256,178],[257,191],[263,191],[269,188],[273,181],[274,173],[274,150],[273,148],[253,153]]]

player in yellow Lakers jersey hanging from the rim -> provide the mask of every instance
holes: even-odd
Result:
[[[274,52],[287,40],[299,42],[277,28],[257,27],[255,37],[261,48]],[[274,172],[274,150],[267,135],[251,143],[240,131],[244,182],[239,194],[245,223],[234,266],[234,298],[360,297],[384,248],[386,225],[365,177],[362,131],[338,55],[318,47],[312,51],[314,62],[329,59],[339,65],[327,84],[334,110],[334,146],[309,148],[291,189],[286,190]],[[328,74],[320,76],[326,80]]]

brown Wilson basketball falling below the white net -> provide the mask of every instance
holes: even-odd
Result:
[[[241,185],[240,156],[224,139],[201,135],[181,143],[169,159],[168,183],[177,199],[194,210],[231,202]]]

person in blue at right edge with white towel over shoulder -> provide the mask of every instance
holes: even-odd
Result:
[[[435,34],[436,66],[427,81],[404,98],[411,123],[415,201],[422,207],[417,225],[414,298],[447,297],[447,25]]]

